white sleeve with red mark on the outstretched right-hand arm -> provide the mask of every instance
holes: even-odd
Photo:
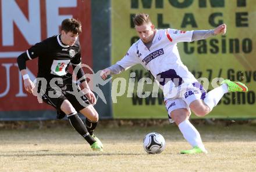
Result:
[[[191,42],[193,31],[167,29],[166,36],[171,42]]]

